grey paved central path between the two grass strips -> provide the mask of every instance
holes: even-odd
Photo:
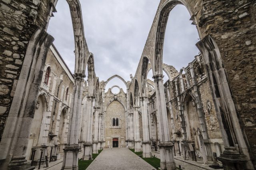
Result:
[[[155,170],[127,148],[104,149],[86,170]]]

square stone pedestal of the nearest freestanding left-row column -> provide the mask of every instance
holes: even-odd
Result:
[[[80,146],[66,146],[63,150],[64,156],[61,170],[78,170],[78,152],[80,150]]]

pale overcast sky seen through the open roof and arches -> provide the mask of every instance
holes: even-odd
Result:
[[[130,81],[140,60],[160,0],[81,0],[86,42],[94,54],[95,72],[101,80],[118,74]],[[74,34],[66,0],[59,0],[48,27],[54,45],[74,72]],[[163,62],[178,71],[198,54],[196,27],[182,5],[171,12],[166,27]],[[150,73],[148,75],[152,77]],[[165,76],[166,77],[166,76]],[[166,80],[166,78],[165,78]],[[124,88],[115,78],[113,85]]]

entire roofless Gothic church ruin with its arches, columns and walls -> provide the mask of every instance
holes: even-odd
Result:
[[[256,168],[255,1],[160,0],[129,81],[96,76],[80,2],[66,1],[74,74],[46,32],[58,0],[0,0],[1,169],[37,166],[42,155],[42,164],[48,156],[78,170],[78,158],[112,147],[146,158],[157,149],[162,170],[176,169],[174,152],[204,164],[216,155],[224,170]],[[162,62],[168,15],[177,4],[186,6],[200,37],[200,54],[179,71]],[[113,78],[126,89],[106,89]]]

